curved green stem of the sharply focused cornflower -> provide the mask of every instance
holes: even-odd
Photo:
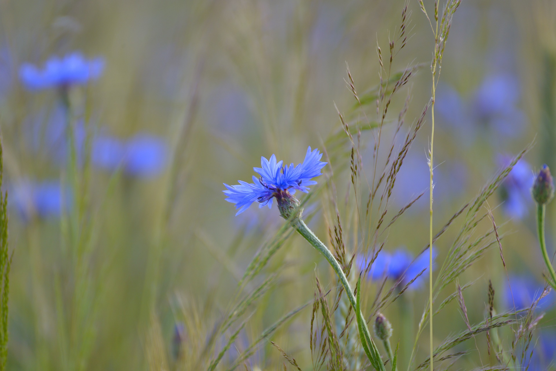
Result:
[[[353,290],[351,290],[351,286],[349,285],[349,282],[347,281],[346,275],[344,274],[344,270],[342,270],[342,268],[340,266],[340,263],[338,263],[336,258],[334,258],[334,255],[332,255],[332,253],[326,247],[326,245],[323,244],[319,240],[319,238],[317,238],[317,236],[315,236],[314,233],[312,233],[312,231],[309,229],[309,227],[307,227],[307,225],[301,219],[301,217],[296,217],[294,220],[291,221],[291,224],[295,228],[295,230],[300,235],[302,235],[315,249],[319,250],[319,253],[321,253],[322,256],[324,256],[324,258],[332,266],[332,269],[334,269],[334,271],[336,272],[336,275],[340,279],[340,283],[342,284],[342,286],[344,286],[344,291],[347,294],[347,298],[349,299],[349,301],[351,303],[351,306],[353,307],[353,310],[356,313],[357,303],[356,303],[355,295],[353,293]],[[361,315],[361,317],[363,317],[363,314],[360,313],[360,315]],[[384,365],[382,363],[382,360],[380,359],[380,353],[378,351],[378,348],[376,348],[376,344],[374,343],[373,339],[371,338],[369,328],[367,327],[366,321],[363,321],[363,322],[365,323],[365,325],[363,326],[363,329],[365,331],[365,335],[366,335],[367,338],[369,338],[371,340],[370,344],[368,344],[368,345],[371,348],[372,353],[375,354],[376,357],[378,358],[378,359],[375,359],[374,361],[377,362],[379,364],[379,366],[381,366],[380,367],[381,369],[384,369]],[[364,340],[361,339],[361,341],[364,341]],[[391,350],[390,350],[390,353],[391,353]],[[390,359],[393,359],[393,358],[390,358]],[[371,361],[373,361],[373,360],[371,360]]]

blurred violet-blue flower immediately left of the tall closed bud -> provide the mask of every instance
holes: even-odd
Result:
[[[512,157],[507,155],[498,157],[501,166],[508,166],[511,160]],[[527,216],[529,207],[533,205],[531,187],[534,181],[535,175],[529,164],[524,160],[518,161],[500,185],[502,210],[505,214],[514,219]]]

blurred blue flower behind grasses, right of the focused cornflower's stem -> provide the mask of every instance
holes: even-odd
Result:
[[[433,246],[433,259],[436,258],[436,249]],[[380,280],[388,277],[394,282],[400,280],[400,288],[404,288],[411,280],[415,279],[411,285],[408,286],[408,290],[419,289],[423,284],[426,277],[426,272],[429,269],[429,250],[425,250],[417,258],[413,258],[413,255],[405,248],[400,248],[394,251],[393,254],[387,251],[380,251],[378,256],[376,256],[375,261],[370,266],[367,273],[368,279]],[[364,271],[370,263],[372,257],[366,257],[359,255],[356,259],[359,269]],[[434,269],[434,262],[433,262]],[[419,275],[419,273],[423,273]],[[419,276],[418,276],[419,275]]]

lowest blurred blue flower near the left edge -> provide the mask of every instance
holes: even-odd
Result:
[[[29,220],[33,215],[44,219],[59,217],[71,202],[71,194],[57,180],[19,181],[12,185],[10,196],[11,206],[17,209],[23,220]]]

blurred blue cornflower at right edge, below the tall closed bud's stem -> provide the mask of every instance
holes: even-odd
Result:
[[[510,275],[504,285],[504,303],[508,309],[527,309],[543,294],[544,287],[529,276]],[[548,310],[554,306],[556,294],[550,291],[539,300],[537,309]]]

